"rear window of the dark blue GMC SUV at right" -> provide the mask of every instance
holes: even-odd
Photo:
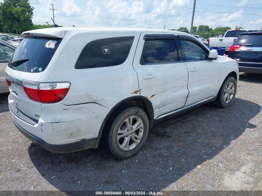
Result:
[[[246,45],[246,47],[262,47],[262,35],[240,35],[234,45]]]

